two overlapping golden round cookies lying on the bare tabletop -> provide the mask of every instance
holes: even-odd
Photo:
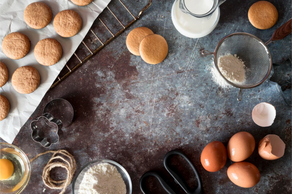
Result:
[[[168,53],[166,40],[146,27],[133,29],[127,36],[126,45],[132,54],[153,65],[162,62]]]

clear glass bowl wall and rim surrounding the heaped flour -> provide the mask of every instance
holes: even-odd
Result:
[[[76,174],[73,184],[72,184],[72,194],[79,194],[79,186],[81,184],[81,181],[84,177],[85,172],[91,168],[92,166],[98,165],[100,163],[108,163],[110,165],[113,165],[117,168],[118,172],[121,174],[125,184],[126,184],[126,194],[132,194],[132,182],[131,178],[128,174],[128,172],[118,163],[111,161],[111,160],[95,160],[87,163],[84,165]]]

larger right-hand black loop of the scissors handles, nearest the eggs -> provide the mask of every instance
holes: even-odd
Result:
[[[168,167],[168,164],[167,164],[167,160],[168,160],[168,157],[171,156],[171,155],[180,155],[182,156],[186,161],[187,163],[190,164],[192,170],[194,171],[196,177],[197,177],[197,181],[198,181],[198,187],[195,189],[194,192],[190,192],[188,189],[187,189],[187,186],[185,185],[184,181],[175,173],[173,172],[173,170],[171,170],[169,167]],[[169,172],[169,174],[171,174],[171,176],[174,178],[175,182],[177,184],[180,185],[181,188],[183,188],[183,190],[187,193],[187,194],[203,194],[203,183],[202,183],[202,180],[201,180],[201,176],[197,170],[197,168],[194,166],[194,164],[192,163],[192,161],[187,157],[187,155],[185,155],[185,153],[179,151],[179,150],[172,150],[170,152],[168,152],[165,157],[164,157],[164,167],[166,168],[166,170]]]

